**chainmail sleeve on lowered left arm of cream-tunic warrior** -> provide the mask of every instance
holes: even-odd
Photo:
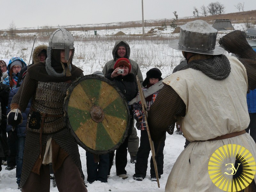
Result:
[[[185,113],[186,105],[183,100],[171,86],[164,85],[148,112],[148,127],[152,140],[160,141],[165,132],[172,134],[177,116],[185,116]]]

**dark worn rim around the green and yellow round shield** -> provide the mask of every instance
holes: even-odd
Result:
[[[81,83],[82,81],[84,81],[85,79],[98,79],[98,80],[101,80],[101,81],[104,81],[108,84],[110,84],[112,87],[115,88],[116,92],[120,95],[124,105],[125,105],[125,108],[127,110],[127,113],[128,113],[128,122],[127,122],[127,127],[126,127],[126,130],[124,132],[124,136],[123,136],[123,140],[120,141],[119,143],[117,143],[112,149],[108,149],[108,150],[94,150],[94,149],[91,149],[89,147],[85,147],[85,145],[82,145],[82,141],[77,137],[76,133],[73,131],[71,125],[70,125],[70,122],[69,122],[69,117],[68,117],[68,101],[69,101],[69,98],[70,98],[70,95],[73,91],[73,89],[76,87],[76,85],[78,85],[79,83]],[[92,153],[92,154],[95,154],[95,155],[103,155],[103,154],[108,154],[108,153],[112,153],[114,152],[116,149],[118,149],[120,147],[120,145],[124,142],[124,140],[128,137],[128,131],[129,131],[129,126],[130,126],[130,121],[131,121],[131,118],[129,118],[130,116],[130,110],[129,110],[129,107],[128,107],[128,103],[125,102],[125,98],[124,98],[124,95],[123,93],[118,89],[118,87],[116,86],[116,84],[110,80],[108,80],[107,78],[103,77],[103,76],[99,76],[99,75],[94,75],[94,74],[91,74],[91,75],[85,75],[81,78],[79,78],[77,81],[75,81],[74,83],[70,84],[70,86],[68,87],[67,89],[67,92],[66,92],[66,97],[65,97],[65,100],[64,100],[64,120],[65,122],[67,122],[67,128],[70,132],[70,134],[74,137],[76,143],[82,147],[84,150],[86,150],[87,152],[89,153]]]

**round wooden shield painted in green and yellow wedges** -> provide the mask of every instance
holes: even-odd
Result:
[[[64,112],[76,142],[93,154],[114,151],[128,135],[127,102],[105,77],[86,75],[72,84],[67,90]]]

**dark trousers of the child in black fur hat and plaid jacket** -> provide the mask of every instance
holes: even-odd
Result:
[[[156,153],[156,164],[158,178],[161,178],[164,169],[164,145],[165,142],[162,141],[160,144],[154,143],[155,153]],[[158,148],[159,146],[159,148]],[[137,161],[135,164],[135,174],[133,177],[146,177],[148,168],[148,156],[150,153],[150,144],[148,140],[147,130],[140,131],[140,147],[137,153]],[[158,150],[158,151],[157,151]],[[150,158],[150,177],[156,177],[156,172],[154,168],[153,158]]]

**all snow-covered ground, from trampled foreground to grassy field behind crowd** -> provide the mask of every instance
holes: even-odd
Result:
[[[242,29],[240,24],[234,25],[235,29]],[[150,28],[145,28],[145,32],[149,31]],[[138,62],[142,75],[145,78],[146,72],[150,68],[157,67],[162,72],[162,77],[166,77],[172,73],[172,69],[179,64],[181,59],[181,52],[173,50],[168,46],[169,39],[178,38],[179,34],[172,34],[172,29],[167,28],[164,31],[157,31],[156,35],[152,36],[152,39],[147,38],[143,40],[142,37],[131,38],[129,36],[115,36],[117,32],[122,31],[126,35],[132,34],[142,34],[141,28],[122,28],[121,30],[100,30],[97,31],[97,36],[94,36],[94,31],[70,31],[75,39],[75,58],[73,64],[82,68],[84,70],[84,75],[91,74],[96,70],[102,70],[105,63],[112,58],[112,49],[116,40],[125,40],[131,47],[130,59]],[[219,32],[217,38],[225,35],[227,32]],[[19,34],[20,36],[25,36],[26,34]],[[32,34],[33,35],[33,34]],[[35,34],[39,35],[39,34]],[[30,34],[31,36],[31,34]],[[25,41],[20,38],[19,41],[13,41],[12,39],[3,39],[0,42],[0,59],[11,57],[22,57],[25,62],[29,62],[32,45],[34,38]],[[36,39],[35,46],[39,44],[47,44],[48,42],[41,42]],[[227,53],[228,54],[228,53]],[[31,63],[32,61],[30,61]],[[140,137],[140,131],[138,136]],[[89,192],[141,192],[141,191],[164,191],[166,180],[172,169],[174,162],[179,156],[180,152],[184,149],[185,138],[182,135],[168,135],[165,141],[164,147],[164,174],[161,176],[160,188],[157,187],[156,182],[150,180],[149,168],[147,171],[147,177],[143,181],[135,181],[132,179],[134,172],[134,164],[130,163],[130,156],[128,154],[128,163],[126,166],[128,179],[122,180],[116,176],[115,161],[112,166],[110,176],[108,178],[108,183],[101,183],[100,181],[95,181],[92,184],[87,183],[87,189]],[[86,174],[86,156],[85,150],[79,147],[82,168],[85,175]],[[149,157],[150,158],[150,157]],[[149,162],[149,160],[148,160]],[[0,172],[0,192],[14,192],[20,191],[17,189],[16,184],[16,171],[5,170],[6,166],[2,165],[3,170]],[[148,164],[148,167],[150,165]],[[57,188],[51,186],[51,191],[58,191]]]

